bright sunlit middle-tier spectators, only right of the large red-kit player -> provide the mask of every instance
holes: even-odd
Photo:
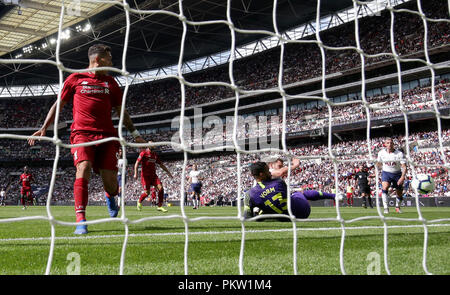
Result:
[[[447,81],[438,84],[435,87],[436,106],[438,109],[449,107],[450,100],[445,97],[449,91],[450,84]],[[366,98],[370,104],[369,114],[371,120],[388,118],[402,115],[400,108],[400,98],[398,94],[377,95]],[[413,111],[434,111],[434,101],[432,98],[431,87],[416,87],[402,92],[402,104],[407,112]],[[332,107],[332,126],[349,124],[358,121],[366,121],[366,109],[361,99],[353,103],[346,103],[340,106]],[[286,113],[286,133],[298,131],[313,130],[328,127],[329,110],[327,106],[314,107],[307,110],[290,110]],[[265,136],[281,137],[282,134],[282,114],[266,117],[267,121],[261,123],[260,117],[254,117],[250,120],[242,119],[238,123],[237,139],[260,138]],[[267,122],[267,124],[265,123]],[[222,124],[222,122],[220,122]],[[233,141],[233,122],[223,124],[221,128],[206,129],[195,127],[186,129],[183,132],[183,138],[189,146],[207,146],[224,145]],[[259,124],[261,123],[261,124]],[[244,126],[244,127],[243,127]],[[242,128],[241,128],[242,127]],[[201,136],[197,136],[197,135]],[[167,130],[163,134],[153,133],[149,135],[153,141],[172,141],[180,143],[179,131]],[[172,148],[172,146],[163,146],[161,149]]]

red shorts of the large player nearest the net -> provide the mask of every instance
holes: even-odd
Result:
[[[76,131],[70,135],[71,144],[92,142],[111,137],[102,133]],[[95,173],[100,169],[117,171],[117,157],[120,144],[118,141],[108,141],[102,144],[80,146],[71,149],[73,155],[73,164],[77,166],[82,161],[90,161]]]

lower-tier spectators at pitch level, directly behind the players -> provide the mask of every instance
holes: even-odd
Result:
[[[384,137],[370,139],[370,150],[372,158],[369,155],[367,140],[344,141],[331,145],[331,152],[336,162],[330,158],[328,145],[303,145],[291,147],[288,149],[290,156],[301,159],[300,168],[294,171],[290,178],[290,184],[294,188],[300,189],[319,189],[331,191],[335,188],[335,181],[338,181],[339,189],[344,191],[348,183],[349,176],[355,172],[355,169],[361,163],[373,164],[378,151],[383,147]],[[441,133],[441,142],[443,149],[440,149],[438,132],[419,132],[413,133],[409,137],[409,173],[412,176],[412,167],[416,173],[425,173],[431,175],[436,171],[445,171],[443,174],[435,177],[436,189],[430,196],[450,197],[450,188],[448,188],[448,172],[443,165],[450,162],[450,130],[443,130]],[[405,146],[406,140],[403,136],[395,137],[397,147],[402,148],[407,154]],[[198,165],[199,170],[203,171],[203,194],[208,199],[223,198],[225,202],[235,200],[238,188],[238,173],[240,173],[241,187],[247,190],[251,187],[253,180],[248,171],[248,166],[257,160],[263,159],[270,153],[250,153],[241,154],[240,167],[237,170],[237,155],[223,154],[220,156],[203,156],[198,159],[188,160],[187,172],[185,175],[185,192],[189,191],[187,174],[191,165]],[[283,156],[282,156],[283,157]],[[286,158],[285,158],[286,159]],[[181,181],[183,177],[183,161],[171,160],[164,161],[165,165],[173,174],[169,178],[165,172],[158,168],[158,175],[168,194],[168,201],[180,200]],[[134,163],[129,163],[127,182],[125,189],[125,200],[135,201],[141,194],[140,180],[134,180]],[[18,197],[19,195],[19,177],[22,167],[2,168],[0,169],[0,185],[4,187],[10,180],[12,181],[9,195]],[[10,173],[15,172],[16,177]],[[32,168],[31,172],[35,175],[37,185],[49,185],[52,168],[40,167]],[[372,173],[374,171],[372,170]],[[75,168],[69,167],[58,169],[56,174],[56,184],[52,201],[57,204],[62,201],[72,200],[73,181],[75,178]],[[101,179],[98,175],[93,175],[89,185],[89,199],[91,201],[103,201],[104,191]]]

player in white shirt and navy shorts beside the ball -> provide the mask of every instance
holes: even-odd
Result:
[[[392,187],[397,193],[395,211],[401,213],[400,203],[403,200],[403,182],[406,177],[406,162],[403,153],[394,147],[392,138],[384,142],[385,148],[378,152],[377,166],[381,171],[381,197],[383,199],[384,214],[389,213],[388,191]]]

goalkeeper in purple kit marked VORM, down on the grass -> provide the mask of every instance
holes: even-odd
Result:
[[[256,185],[248,191],[248,206],[245,207],[245,217],[253,217],[254,214],[283,214],[288,215],[287,185],[280,178],[272,178],[269,166],[264,162],[256,162],[250,166],[250,173],[256,181]],[[308,218],[311,213],[309,201],[324,199],[342,200],[343,196],[335,194],[307,190],[293,192],[291,194],[292,214],[298,219]],[[257,208],[255,210],[255,208]],[[280,219],[282,220],[282,219]],[[283,220],[288,220],[284,219]]]

